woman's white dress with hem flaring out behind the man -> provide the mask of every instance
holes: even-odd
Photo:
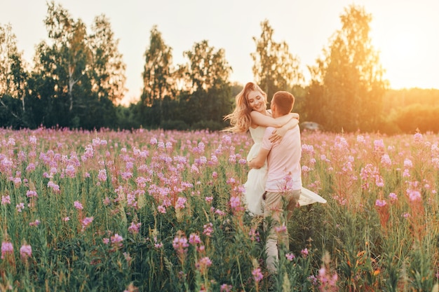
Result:
[[[250,134],[252,136],[253,144],[252,148],[247,155],[247,161],[252,160],[257,156],[259,149],[261,148],[262,139],[264,138],[265,127],[250,127]],[[248,211],[250,211],[254,215],[262,215],[264,214],[263,204],[262,204],[262,195],[265,192],[265,183],[267,177],[268,169],[266,167],[266,161],[264,162],[264,166],[255,169],[252,168],[248,172],[247,181],[244,183],[245,188],[245,204],[247,206]],[[302,187],[302,193],[299,198],[299,205],[304,206],[307,204],[313,204],[315,202],[326,203],[326,200],[320,195],[317,195],[312,190]]]

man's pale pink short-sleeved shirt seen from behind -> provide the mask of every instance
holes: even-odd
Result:
[[[288,130],[280,143],[270,145],[268,137],[273,130],[273,127],[266,129],[262,142],[262,147],[266,149],[271,146],[267,157],[269,170],[265,190],[269,192],[300,190],[302,188],[300,169],[302,146],[299,127]]]

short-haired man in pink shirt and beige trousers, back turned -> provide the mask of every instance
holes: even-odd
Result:
[[[271,99],[273,118],[285,116],[294,106],[295,98],[290,92],[278,91]],[[248,162],[249,167],[259,168],[267,160],[268,177],[264,193],[264,226],[269,228],[266,241],[266,267],[270,272],[276,272],[278,262],[278,246],[282,244],[288,249],[288,230],[286,221],[292,215],[299,200],[302,188],[300,158],[299,127],[294,127],[285,133],[280,142],[271,143],[269,137],[275,128],[267,127],[262,140],[262,147],[257,157]],[[285,218],[284,209],[287,216]],[[271,226],[267,219],[271,218]]]

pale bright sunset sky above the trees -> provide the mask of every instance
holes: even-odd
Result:
[[[253,81],[253,37],[268,20],[273,40],[288,43],[306,78],[307,66],[316,64],[330,37],[342,28],[339,16],[354,4],[372,15],[370,38],[379,52],[391,88],[439,89],[438,0],[58,0],[55,4],[88,29],[98,15],[106,15],[119,52],[126,64],[124,103],[135,102],[142,92],[144,52],[154,25],[167,46],[173,64],[184,64],[183,52],[208,40],[223,48],[232,67],[230,81]],[[32,64],[35,46],[48,41],[43,24],[46,0],[0,0],[0,25],[11,24],[18,50]]]

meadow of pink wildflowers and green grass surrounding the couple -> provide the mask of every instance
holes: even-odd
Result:
[[[438,291],[437,134],[302,133],[327,204],[295,209],[269,274],[250,135],[0,132],[1,291]]]

